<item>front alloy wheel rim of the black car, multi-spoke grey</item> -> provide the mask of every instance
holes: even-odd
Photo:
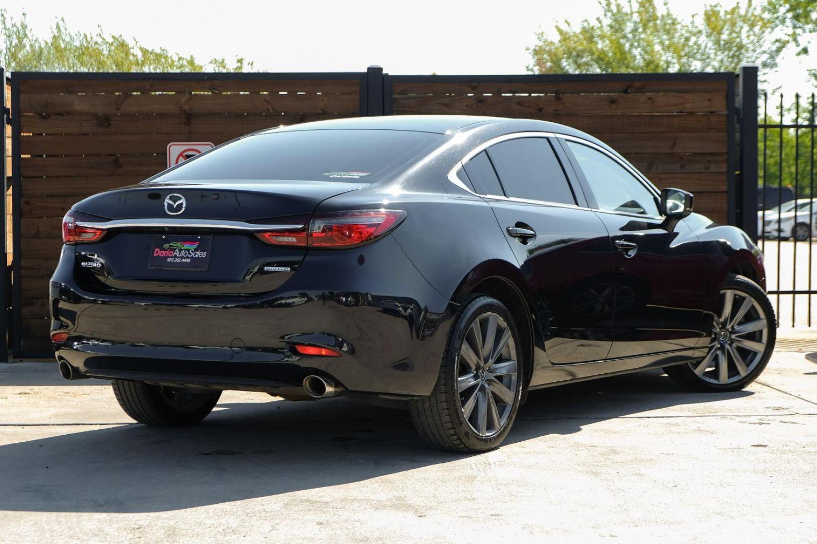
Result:
[[[709,383],[738,382],[760,364],[768,338],[769,320],[760,303],[743,291],[722,290],[707,356],[690,368]]]

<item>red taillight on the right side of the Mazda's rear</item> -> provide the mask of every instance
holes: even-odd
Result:
[[[346,249],[368,244],[395,228],[405,219],[403,210],[355,210],[317,215],[309,231],[258,232],[271,245],[301,245]]]

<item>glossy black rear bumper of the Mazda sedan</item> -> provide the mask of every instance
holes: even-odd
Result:
[[[350,391],[428,395],[453,305],[391,237],[354,250],[310,251],[278,290],[258,297],[100,294],[74,282],[74,252],[51,277],[55,344],[87,376],[302,393],[308,374]],[[301,356],[296,343],[339,357]]]

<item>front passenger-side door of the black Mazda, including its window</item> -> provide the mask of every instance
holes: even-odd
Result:
[[[609,358],[696,347],[706,286],[698,238],[684,220],[661,217],[658,193],[625,161],[581,139],[560,142],[614,249]]]

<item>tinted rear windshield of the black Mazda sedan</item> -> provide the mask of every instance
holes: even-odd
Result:
[[[442,135],[402,130],[293,130],[248,136],[183,163],[153,182],[294,179],[373,183]]]

